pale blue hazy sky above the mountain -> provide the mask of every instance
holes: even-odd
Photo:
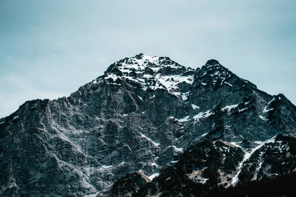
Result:
[[[296,104],[295,0],[0,0],[0,118],[139,53],[216,59]]]

